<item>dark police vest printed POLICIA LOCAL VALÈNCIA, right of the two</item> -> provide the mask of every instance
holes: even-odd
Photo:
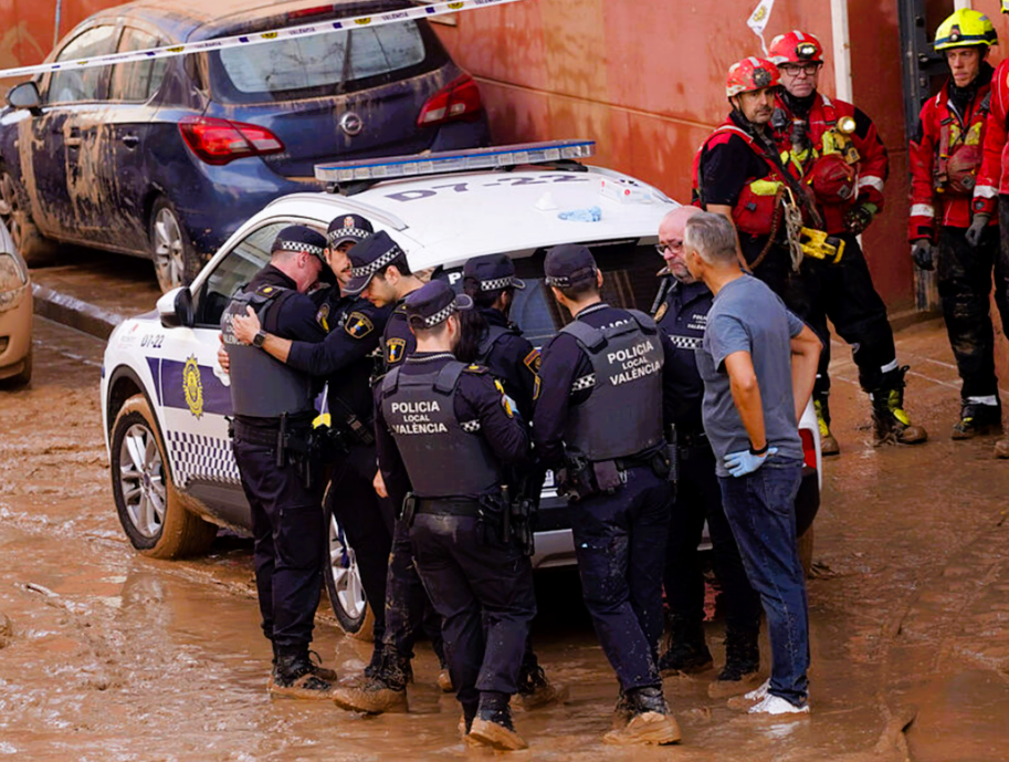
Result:
[[[592,393],[572,406],[564,441],[596,462],[629,458],[662,440],[662,366],[655,322],[637,310],[628,320],[595,328],[572,321],[564,328],[588,355]]]

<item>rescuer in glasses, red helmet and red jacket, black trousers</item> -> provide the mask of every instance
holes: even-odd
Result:
[[[817,91],[823,46],[816,36],[801,31],[779,34],[770,43],[770,59],[781,76],[779,111],[772,122],[778,147],[814,195],[822,227],[817,226],[819,231],[812,234],[826,233],[827,240],[839,241],[829,257],[803,247],[801,267],[809,322],[828,347],[820,355],[813,390],[823,452],[840,451],[830,434],[828,319],[852,346],[859,383],[872,400],[874,443],[923,442],[925,429],[913,426],[904,411],[908,368],[897,364],[886,306],[872,283],[858,238],[883,208],[886,148],[861,109]]]

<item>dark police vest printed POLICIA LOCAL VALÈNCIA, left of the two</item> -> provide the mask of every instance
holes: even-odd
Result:
[[[454,361],[418,375],[396,367],[382,380],[382,415],[419,498],[483,494],[502,483],[501,463],[480,421],[455,417],[465,369]]]

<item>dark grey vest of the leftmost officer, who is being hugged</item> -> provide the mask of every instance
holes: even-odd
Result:
[[[221,333],[231,361],[231,407],[237,416],[278,418],[285,413],[294,415],[314,409],[311,376],[257,347],[241,344],[231,322],[251,306],[259,315],[260,324],[265,325],[264,316],[270,305],[291,293],[294,292],[277,285],[260,286],[252,292],[241,290],[224,310]]]

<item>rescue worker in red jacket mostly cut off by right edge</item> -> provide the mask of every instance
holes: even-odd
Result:
[[[1009,13],[1009,0],[1002,0],[1002,13]],[[1006,139],[1007,112],[1009,112],[1009,59],[1003,60],[991,75],[988,115],[985,121],[984,150],[981,167],[978,169],[977,182],[974,186],[974,217],[965,238],[971,246],[982,249],[986,234],[992,219],[998,220],[998,251],[989,258],[984,274],[984,282],[977,283],[979,291],[991,288],[990,271],[995,270],[995,303],[1002,316],[1002,328],[1009,328],[1009,140]],[[998,218],[996,215],[998,208]],[[994,259],[994,262],[992,262]],[[980,269],[978,270],[980,278]],[[987,304],[986,304],[987,307]],[[988,317],[988,310],[984,311]],[[990,326],[990,322],[988,323]],[[959,358],[957,358],[959,364]],[[999,439],[995,445],[996,458],[1009,458],[1009,437]]]

